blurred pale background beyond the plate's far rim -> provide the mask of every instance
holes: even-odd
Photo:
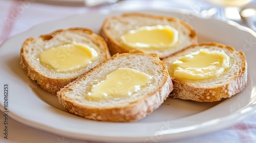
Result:
[[[77,13],[118,10],[181,11],[204,18],[233,20],[256,31],[255,8],[256,0],[1,0],[0,43],[44,21]]]

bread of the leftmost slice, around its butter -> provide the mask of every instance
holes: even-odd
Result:
[[[66,73],[55,73],[52,69],[37,60],[37,55],[41,51],[49,47],[72,43],[73,41],[86,43],[91,46],[98,53],[97,59],[85,68]],[[108,46],[101,36],[94,34],[86,28],[70,28],[56,30],[50,34],[40,35],[39,37],[27,38],[20,51],[20,65],[25,70],[27,76],[36,81],[41,88],[56,94],[60,88],[109,57],[111,55]]]

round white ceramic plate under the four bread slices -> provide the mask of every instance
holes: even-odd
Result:
[[[39,88],[19,65],[20,46],[27,37],[46,34],[56,29],[87,27],[98,32],[105,17],[122,12],[74,15],[42,23],[27,32],[6,40],[0,48],[0,85],[8,84],[10,117],[25,125],[54,134],[96,141],[157,142],[192,137],[231,126],[256,112],[256,34],[233,22],[203,19],[197,16],[165,11],[140,11],[166,14],[186,20],[195,28],[200,42],[215,41],[242,50],[248,62],[248,84],[229,99],[214,103],[198,103],[167,99],[159,109],[134,123],[110,123],[87,120],[68,112],[57,98]],[[3,93],[3,91],[1,91]],[[4,111],[4,94],[1,110]]]

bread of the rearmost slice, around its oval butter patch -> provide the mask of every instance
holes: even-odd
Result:
[[[130,51],[121,41],[121,35],[143,26],[168,25],[178,30],[178,43],[167,50],[146,50],[147,53],[158,54],[160,59],[172,55],[185,47],[197,43],[196,31],[185,21],[175,17],[143,13],[124,13],[120,16],[106,18],[100,30],[100,35],[108,43],[111,54]],[[140,49],[141,50],[141,49]]]

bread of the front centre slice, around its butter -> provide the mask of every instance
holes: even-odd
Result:
[[[93,85],[104,80],[118,68],[132,68],[152,76],[147,84],[132,96],[87,100]],[[98,121],[134,122],[157,109],[173,89],[167,68],[156,54],[133,50],[116,54],[88,73],[62,88],[59,103],[73,114]]]

